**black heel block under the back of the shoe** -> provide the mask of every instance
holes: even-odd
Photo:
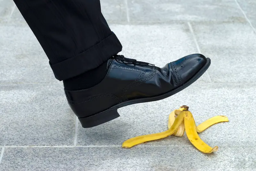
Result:
[[[117,112],[117,109],[106,110],[100,113],[97,113],[92,116],[78,118],[83,128],[91,128],[102,123],[106,123],[113,119],[116,119],[120,115]]]

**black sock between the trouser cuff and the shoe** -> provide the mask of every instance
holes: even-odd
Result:
[[[99,84],[108,73],[108,61],[73,78],[63,80],[65,90],[83,90]]]

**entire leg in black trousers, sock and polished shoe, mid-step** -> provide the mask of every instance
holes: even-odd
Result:
[[[118,108],[178,93],[210,66],[210,59],[201,54],[164,68],[116,55],[122,46],[103,18],[99,0],[14,2],[56,78],[63,80],[69,106],[84,128],[115,119]]]

